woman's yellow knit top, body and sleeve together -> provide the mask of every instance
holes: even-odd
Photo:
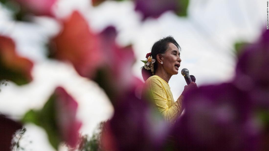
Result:
[[[183,111],[183,96],[180,95],[175,102],[169,84],[157,75],[153,75],[145,81],[145,88],[150,100],[153,101],[164,119],[169,123],[174,123]]]

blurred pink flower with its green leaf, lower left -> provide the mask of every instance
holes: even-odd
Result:
[[[28,111],[22,121],[45,129],[51,145],[58,149],[60,142],[71,148],[79,143],[82,122],[76,119],[77,102],[62,87],[57,87],[44,107]]]

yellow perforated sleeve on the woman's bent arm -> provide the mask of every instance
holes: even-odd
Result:
[[[148,80],[146,85],[148,86],[148,93],[150,99],[157,106],[158,111],[164,116],[164,119],[170,123],[173,123],[182,113],[182,98],[180,95],[178,100],[170,108],[168,107],[167,95],[162,86],[162,83],[157,78]]]

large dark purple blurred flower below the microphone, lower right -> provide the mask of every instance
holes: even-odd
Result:
[[[249,94],[231,83],[204,86],[184,98],[185,113],[172,132],[180,150],[256,150],[261,127]]]

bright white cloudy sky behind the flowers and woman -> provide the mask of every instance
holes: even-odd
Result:
[[[235,44],[256,41],[266,25],[266,1],[190,0],[186,16],[168,10],[146,19],[135,11],[134,1],[104,1],[98,6],[92,3],[90,0],[58,0],[51,11],[55,18],[65,19],[78,10],[95,33],[114,26],[118,45],[132,45],[136,58],[132,74],[141,80],[144,64],[140,60],[146,59],[155,41],[172,35],[182,49],[180,71],[189,69],[198,87],[229,82],[235,76]],[[16,21],[7,7],[10,5],[0,5],[0,34],[15,41],[18,55],[34,62],[33,81],[22,86],[11,81],[1,85],[0,112],[18,120],[29,109],[41,109],[55,88],[62,86],[78,102],[77,118],[83,123],[81,134],[91,136],[98,124],[114,113],[108,96],[97,83],[80,76],[72,64],[47,58],[45,44],[62,28],[56,19],[30,16],[31,22]],[[16,9],[16,5],[12,7]],[[105,47],[106,43],[103,45]],[[172,76],[169,86],[174,100],[185,85],[180,73]],[[25,150],[55,150],[42,128],[34,124],[25,127],[27,131],[20,143]],[[59,150],[67,150],[67,147],[62,145]]]

